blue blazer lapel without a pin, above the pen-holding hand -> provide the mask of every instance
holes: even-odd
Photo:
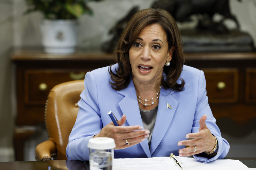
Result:
[[[117,93],[124,96],[124,98],[118,104],[123,114],[126,115],[127,123],[130,126],[140,125],[143,127],[136,91],[132,79],[127,88],[117,91]],[[144,140],[140,143],[140,145],[146,153],[147,157],[151,157],[148,147],[148,140]]]

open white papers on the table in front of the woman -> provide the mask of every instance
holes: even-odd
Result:
[[[250,170],[239,160],[220,159],[202,163],[193,158],[179,157],[183,170]],[[114,159],[113,170],[181,170],[170,157]]]

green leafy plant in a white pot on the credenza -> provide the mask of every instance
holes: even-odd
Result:
[[[40,11],[42,44],[46,53],[73,53],[77,44],[77,19],[82,14],[92,15],[88,1],[100,0],[25,0],[25,14]]]

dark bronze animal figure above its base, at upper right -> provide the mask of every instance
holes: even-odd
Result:
[[[238,1],[241,2],[241,0]],[[230,12],[229,0],[157,0],[152,7],[168,11],[178,22],[189,21],[191,15],[201,14],[203,19],[199,19],[199,29],[210,29],[219,33],[228,32],[223,24],[225,19],[233,20],[237,29],[240,28],[236,17]],[[213,21],[213,15],[216,13],[223,16],[219,22]]]

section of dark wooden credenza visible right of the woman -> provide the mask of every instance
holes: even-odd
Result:
[[[190,53],[186,65],[203,70],[216,119],[256,120],[256,53]]]

